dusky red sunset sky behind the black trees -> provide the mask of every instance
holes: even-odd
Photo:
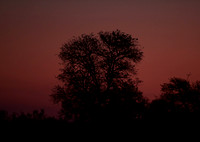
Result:
[[[139,39],[139,88],[154,99],[170,77],[200,80],[199,0],[0,0],[0,109],[56,114],[60,47],[119,29]]]

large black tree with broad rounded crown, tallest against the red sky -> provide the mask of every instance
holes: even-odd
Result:
[[[58,79],[63,85],[51,95],[55,103],[61,102],[61,115],[89,121],[111,115],[116,119],[125,110],[138,114],[145,101],[134,75],[142,56],[137,39],[119,30],[68,41],[59,54],[63,68]]]

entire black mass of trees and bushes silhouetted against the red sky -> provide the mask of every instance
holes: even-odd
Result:
[[[136,77],[135,65],[142,57],[137,39],[119,30],[73,38],[61,47],[58,79],[62,84],[51,94],[54,103],[61,104],[59,118],[48,117],[43,109],[12,115],[1,110],[0,123],[76,129],[110,124],[131,127],[156,121],[197,122],[200,81],[170,78],[161,84],[160,97],[149,102],[139,91],[141,81]]]

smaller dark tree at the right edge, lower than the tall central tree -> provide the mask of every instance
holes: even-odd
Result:
[[[182,78],[170,78],[161,85],[160,99],[151,103],[151,112],[166,118],[192,118],[200,112],[200,82],[190,83]],[[191,113],[193,112],[193,113]]]

